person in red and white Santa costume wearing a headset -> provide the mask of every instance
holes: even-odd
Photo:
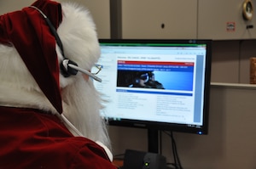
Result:
[[[99,110],[96,25],[73,3],[0,16],[0,168],[115,168]]]

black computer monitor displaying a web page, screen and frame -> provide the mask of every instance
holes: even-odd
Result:
[[[109,125],[207,134],[211,41],[101,39]]]

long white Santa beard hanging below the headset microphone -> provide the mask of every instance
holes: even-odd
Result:
[[[76,82],[62,89],[63,115],[76,127],[85,138],[100,141],[110,147],[105,122],[100,116],[102,109],[99,93],[89,79],[81,75]],[[70,131],[73,132],[72,128]],[[77,133],[73,132],[74,135]]]

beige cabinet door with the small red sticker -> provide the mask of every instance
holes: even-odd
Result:
[[[243,19],[243,0],[198,1],[198,38],[224,40],[256,37],[256,16],[254,14],[252,20]],[[252,3],[256,5],[254,0]],[[247,29],[247,25],[253,25],[253,28]]]

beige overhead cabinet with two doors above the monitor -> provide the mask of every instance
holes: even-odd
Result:
[[[117,24],[122,27],[122,38],[256,37],[256,16],[243,19],[241,0],[123,0],[119,8],[121,20]]]

